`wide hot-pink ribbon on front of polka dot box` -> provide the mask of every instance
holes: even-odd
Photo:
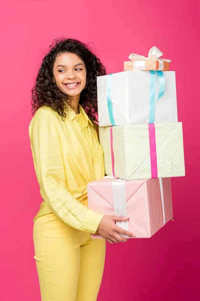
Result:
[[[148,124],[149,145],[150,145],[150,168],[151,178],[157,178],[157,155],[155,143],[155,126],[154,123]]]

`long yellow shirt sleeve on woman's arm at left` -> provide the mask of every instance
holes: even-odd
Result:
[[[39,109],[29,137],[40,193],[52,212],[69,226],[95,233],[103,217],[78,202],[68,191],[58,131],[48,111]]]

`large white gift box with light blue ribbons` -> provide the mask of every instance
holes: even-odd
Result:
[[[161,81],[158,72],[123,71],[98,76],[99,126],[177,122],[175,72],[161,72]],[[161,89],[164,93],[156,101]]]

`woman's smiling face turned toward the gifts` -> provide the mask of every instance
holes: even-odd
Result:
[[[71,99],[78,99],[86,84],[86,67],[74,53],[61,53],[55,59],[53,76],[57,87]]]

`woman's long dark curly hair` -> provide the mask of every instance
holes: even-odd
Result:
[[[56,39],[49,46],[49,52],[43,58],[39,68],[35,85],[32,88],[32,114],[42,106],[48,106],[56,111],[64,120],[67,112],[67,95],[53,82],[53,65],[57,55],[61,53],[74,53],[80,57],[86,67],[86,85],[80,94],[79,103],[91,120],[97,113],[97,87],[96,77],[105,75],[106,70],[100,60],[92,53],[88,44],[76,39]]]

